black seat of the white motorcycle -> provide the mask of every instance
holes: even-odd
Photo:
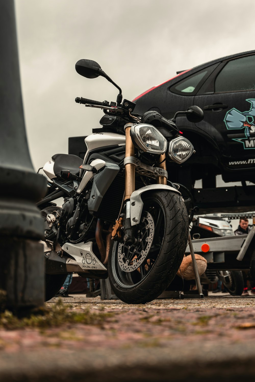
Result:
[[[72,174],[78,175],[79,167],[83,163],[80,157],[71,154],[55,154],[52,160],[54,160],[53,170],[56,176],[60,176],[62,170],[69,170]]]

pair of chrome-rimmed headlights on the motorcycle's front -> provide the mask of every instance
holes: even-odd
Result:
[[[139,123],[133,125],[130,131],[133,142],[141,150],[152,154],[164,154],[167,151],[166,138],[152,125]],[[187,138],[177,137],[169,142],[168,155],[177,163],[183,163],[194,151]]]

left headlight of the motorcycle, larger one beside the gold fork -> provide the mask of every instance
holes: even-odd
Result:
[[[143,151],[164,154],[167,150],[166,138],[152,125],[147,123],[133,125],[130,135],[136,145]]]

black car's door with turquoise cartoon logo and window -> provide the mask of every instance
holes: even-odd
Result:
[[[255,163],[255,55],[222,62],[194,98],[204,111],[198,129],[209,133],[228,168]]]

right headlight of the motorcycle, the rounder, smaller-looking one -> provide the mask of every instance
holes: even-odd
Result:
[[[174,162],[183,163],[193,151],[194,147],[187,138],[177,137],[169,143],[168,155]]]

